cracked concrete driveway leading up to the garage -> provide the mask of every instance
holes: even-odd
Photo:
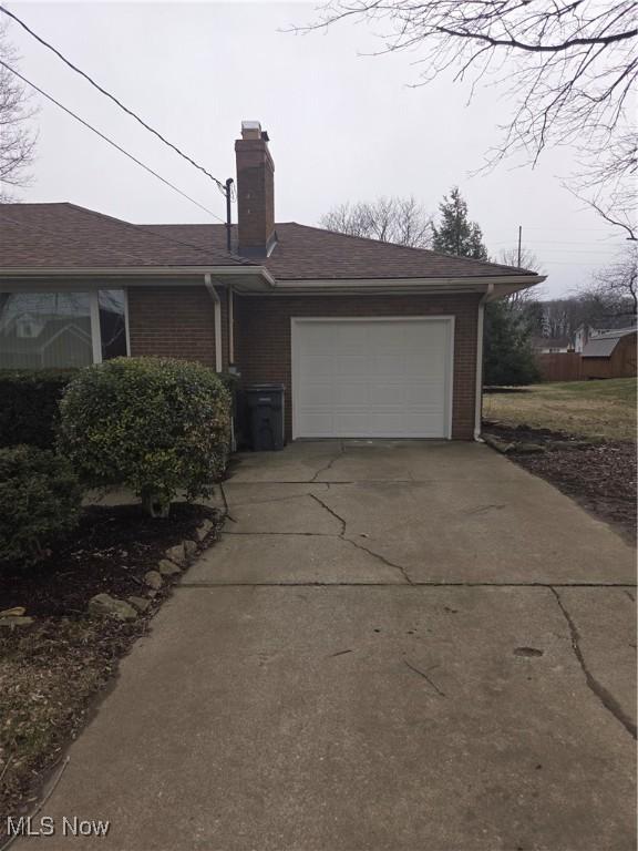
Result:
[[[615,532],[477,444],[299,443],[219,499],[44,809],[107,838],[40,847],[635,848]]]

